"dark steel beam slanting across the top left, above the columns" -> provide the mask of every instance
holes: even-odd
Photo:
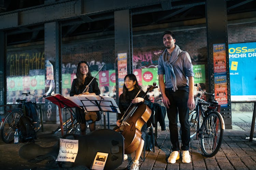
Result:
[[[160,4],[163,0],[68,0],[0,14],[0,30]],[[63,10],[64,9],[64,10]],[[159,9],[160,10],[160,9]]]

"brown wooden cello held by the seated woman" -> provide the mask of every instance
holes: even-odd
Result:
[[[147,91],[142,96],[144,98],[149,91],[158,88],[156,83],[153,83],[153,86],[147,88]],[[142,89],[139,90],[136,98]],[[125,154],[131,154],[137,150],[141,142],[141,129],[142,126],[148,121],[151,116],[151,109],[144,103],[137,103],[125,111],[123,117],[120,119],[121,126],[116,129],[117,132],[120,132],[124,137],[124,150]]]

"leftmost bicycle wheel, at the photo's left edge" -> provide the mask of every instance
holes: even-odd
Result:
[[[5,116],[4,122],[1,124],[1,138],[5,143],[13,142],[15,129],[18,128],[21,115],[19,110],[13,110]]]

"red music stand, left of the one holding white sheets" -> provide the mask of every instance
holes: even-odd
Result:
[[[65,116],[66,116],[66,134],[67,134],[67,108],[72,107],[79,107],[74,102],[70,101],[68,98],[61,94],[53,94],[52,96],[45,97],[49,101],[51,101],[53,104],[57,105],[59,107],[59,117],[60,117],[60,128],[61,128],[61,135],[63,136],[63,123],[62,123],[62,108],[65,108]],[[82,108],[81,108],[82,109]],[[60,112],[61,110],[61,112]]]

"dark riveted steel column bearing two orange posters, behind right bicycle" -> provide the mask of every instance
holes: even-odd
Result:
[[[230,79],[229,79],[229,55],[228,55],[228,31],[227,31],[227,7],[226,0],[206,0],[205,12],[207,19],[207,48],[208,48],[208,70],[209,86],[211,93],[214,93],[214,57],[213,45],[225,44],[226,72],[227,77],[227,106],[221,107],[221,114],[224,118],[225,127],[232,129],[231,101],[230,101]],[[223,74],[222,74],[223,75]],[[215,94],[216,95],[216,94]]]

